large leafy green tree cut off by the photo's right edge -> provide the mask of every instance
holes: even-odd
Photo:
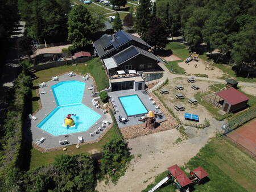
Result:
[[[241,32],[236,36],[236,41],[233,45],[231,53],[235,64],[239,66],[240,71],[242,66],[247,68],[247,78],[250,76],[250,70],[256,66],[256,22],[246,24]]]

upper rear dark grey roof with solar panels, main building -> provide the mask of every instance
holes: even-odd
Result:
[[[134,40],[138,43],[141,43],[143,45],[146,45],[146,47],[151,48],[150,45],[148,45],[145,41],[143,41],[141,38],[136,37],[134,35],[128,34],[125,31],[118,31],[114,34],[114,41],[113,41],[113,35],[103,35],[93,43],[93,46],[96,48],[96,51],[98,53],[98,56],[100,58],[106,56],[108,53],[112,52],[114,49],[120,47],[123,44],[126,44],[127,42]],[[104,51],[105,48],[110,47],[107,51]]]

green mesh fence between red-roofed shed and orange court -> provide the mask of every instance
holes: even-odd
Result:
[[[242,124],[248,122],[249,120],[253,119],[256,117],[256,107],[251,108],[250,110],[246,111],[245,113],[232,118],[228,121],[225,126],[222,127],[222,134],[226,135],[226,133],[229,133],[230,131],[233,131],[237,127],[240,127]]]

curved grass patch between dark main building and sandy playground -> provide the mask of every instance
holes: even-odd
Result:
[[[189,51],[185,47],[185,45],[183,45],[181,43],[177,43],[177,42],[171,42],[171,43],[168,43],[166,45],[165,49],[166,50],[171,50],[174,55],[180,57],[180,59],[181,59],[181,60],[178,60],[178,61],[168,62],[169,65],[166,65],[167,68],[170,69],[170,71],[171,71],[171,69],[173,69],[172,73],[185,74],[185,70],[177,64],[178,62],[184,61],[189,55]]]

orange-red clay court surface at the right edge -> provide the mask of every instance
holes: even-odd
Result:
[[[252,157],[256,157],[256,119],[251,120],[244,126],[229,132],[226,136],[231,139],[236,146],[241,145],[250,152]]]

